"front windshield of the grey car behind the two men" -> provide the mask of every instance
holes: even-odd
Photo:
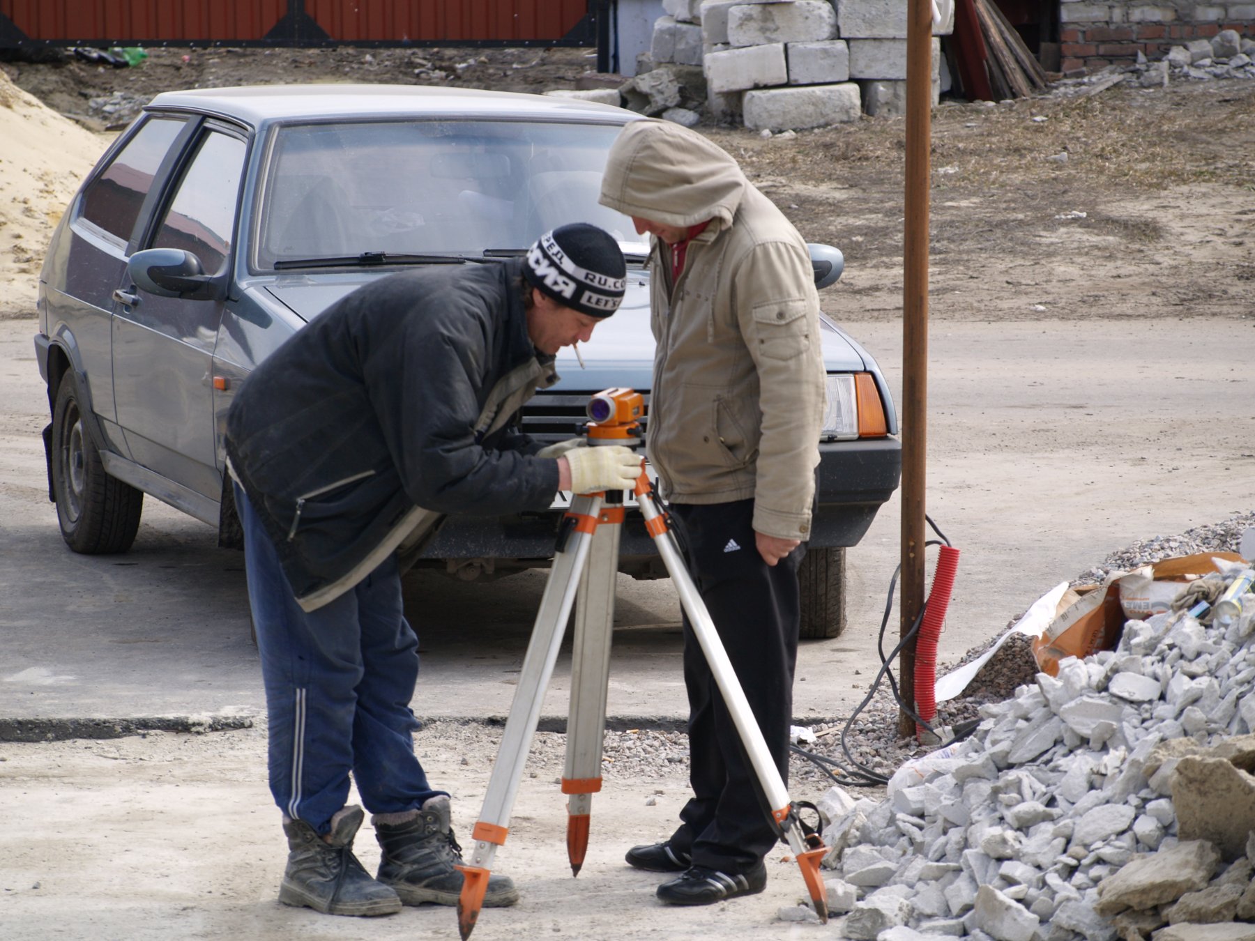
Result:
[[[626,255],[644,255],[649,246],[631,220],[597,203],[619,128],[510,120],[284,125],[264,183],[255,263],[380,263],[380,252],[398,263],[483,257],[526,250],[569,222],[600,226]]]

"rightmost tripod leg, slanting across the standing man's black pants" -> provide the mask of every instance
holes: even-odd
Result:
[[[658,509],[654,496],[649,491],[649,482],[644,477],[636,484],[636,497],[640,502],[640,512],[645,517],[645,528],[654,538],[658,552],[663,557],[663,563],[671,576],[675,591],[680,596],[680,605],[689,616],[693,634],[697,636],[698,644],[702,646],[702,652],[710,665],[710,673],[714,675],[719,693],[723,695],[723,701],[728,706],[728,713],[737,726],[740,742],[745,747],[749,763],[758,775],[758,783],[763,788],[768,805],[773,808],[772,817],[783,832],[789,848],[793,851],[793,856],[797,858],[797,864],[802,869],[802,878],[814,903],[814,911],[823,921],[827,921],[827,892],[823,888],[823,880],[820,878],[820,862],[823,859],[826,852],[823,841],[813,833],[806,834],[802,829],[802,823],[792,807],[784,780],[781,778],[781,773],[772,760],[771,752],[767,750],[762,729],[758,728],[758,721],[749,708],[745,693],[737,679],[737,671],[728,659],[723,641],[719,640],[714,621],[710,620],[710,612],[707,611],[705,603],[702,601],[702,595],[698,592],[697,585],[693,583],[693,578],[684,566],[684,560],[680,557],[680,551],[675,545],[675,537],[666,528],[666,519]]]

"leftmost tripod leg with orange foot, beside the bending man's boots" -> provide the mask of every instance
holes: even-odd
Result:
[[[600,494],[576,497],[567,513],[576,521],[575,529],[569,533],[566,545],[553,556],[541,607],[532,626],[532,637],[523,656],[518,686],[510,705],[506,730],[497,749],[497,760],[488,778],[483,808],[479,811],[479,821],[471,832],[474,846],[468,862],[458,867],[463,875],[462,895],[458,897],[458,931],[462,941],[471,936],[479,917],[493,857],[510,832],[510,812],[518,794],[520,778],[527,762],[527,753],[531,750],[536,724],[540,721],[545,690],[553,675],[553,664],[562,645],[580,572],[589,557],[600,512]]]

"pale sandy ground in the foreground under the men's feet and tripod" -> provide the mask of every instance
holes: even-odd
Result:
[[[497,735],[478,725],[435,726],[419,735],[430,772],[451,782],[454,828],[466,839],[491,772]],[[0,793],[20,816],[20,836],[0,838],[0,907],[9,941],[102,938],[457,938],[454,910],[405,908],[385,918],[333,918],[275,901],[286,846],[270,804],[260,730],[190,736],[166,733],[112,742],[3,745]],[[486,757],[488,760],[486,762]],[[463,760],[469,764],[463,764]],[[533,753],[520,788],[511,837],[496,871],[522,900],[484,910],[473,937],[493,938],[789,938],[836,937],[820,926],[787,926],[781,906],[804,895],[783,847],[768,859],[768,888],[709,908],[660,905],[661,877],[622,862],[631,843],[665,838],[679,777],[607,775],[595,798],[589,854],[579,878],[566,858],[561,752]],[[374,871],[369,826],[356,851]]]

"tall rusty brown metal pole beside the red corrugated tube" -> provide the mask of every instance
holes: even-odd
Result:
[[[910,0],[906,24],[906,212],[902,250],[902,575],[899,636],[924,610],[927,450],[929,149],[932,137],[932,4]],[[915,641],[899,657],[902,701],[915,705]],[[897,716],[899,735],[915,721]]]

